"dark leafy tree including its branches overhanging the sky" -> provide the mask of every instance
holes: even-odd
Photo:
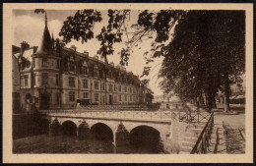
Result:
[[[228,111],[230,78],[238,78],[245,66],[244,12],[145,10],[139,13],[129,35],[125,22],[130,12],[108,10],[108,25],[96,34],[100,41],[97,53],[105,64],[107,56],[114,53],[113,45],[122,42],[124,34],[127,47],[120,52],[121,65],[128,65],[134,47],[145,39],[152,39],[152,49],[144,54],[146,65],[154,62],[154,58],[164,57],[159,77],[163,78],[160,86],[165,92],[174,90],[183,100],[198,100],[204,95],[211,110],[218,90],[224,87]],[[96,10],[79,10],[67,18],[59,35],[65,43],[71,39],[87,42],[95,37],[94,27],[101,20]],[[151,67],[144,69],[142,77],[149,75]]]

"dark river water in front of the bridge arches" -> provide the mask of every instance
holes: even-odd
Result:
[[[165,153],[161,147],[132,146],[116,149],[112,142],[77,137],[39,135],[14,139],[14,153]]]

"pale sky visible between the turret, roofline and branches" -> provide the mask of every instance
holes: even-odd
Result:
[[[48,28],[50,33],[53,33],[54,38],[61,38],[58,33],[63,25],[63,22],[68,16],[74,16],[76,10],[47,10],[48,18]],[[107,11],[99,11],[102,15],[101,23],[97,23],[94,28],[95,37],[99,33],[102,26],[106,26],[108,22]],[[135,24],[138,19],[139,11],[131,11],[130,21],[127,21],[127,28],[132,24]],[[13,11],[13,23],[14,23],[14,45],[20,46],[22,41],[27,41],[31,46],[38,46],[42,37],[42,32],[44,28],[44,14],[35,14],[33,10],[14,10]],[[129,31],[129,28],[128,28]],[[126,41],[126,35],[122,36],[123,41]],[[144,59],[143,54],[145,51],[151,49],[151,42],[153,40],[145,40],[142,43],[139,43],[138,47],[133,48],[133,53],[131,53],[129,64],[125,66],[127,71],[132,71],[135,75],[141,76],[143,73],[143,68],[146,65],[146,60]],[[99,48],[99,41],[96,38],[89,40],[87,43],[82,44],[81,41],[72,40],[66,46],[70,47],[75,45],[77,51],[84,52],[87,50],[90,56],[96,55],[96,51]],[[122,48],[125,48],[123,43],[114,44],[114,53],[113,55],[108,56],[108,62],[114,62],[115,65],[118,65],[120,62],[120,55],[118,52]],[[152,71],[149,77],[141,78],[150,79],[149,87],[154,91],[155,95],[162,94],[158,80],[158,73],[160,71],[160,63],[163,58],[155,59],[150,66],[152,66]]]

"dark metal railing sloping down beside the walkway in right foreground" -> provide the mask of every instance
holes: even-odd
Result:
[[[201,132],[199,138],[196,141],[196,144],[194,145],[194,147],[190,152],[191,154],[195,154],[195,153],[206,154],[208,152],[213,128],[214,128],[214,112],[211,113],[205,128]]]

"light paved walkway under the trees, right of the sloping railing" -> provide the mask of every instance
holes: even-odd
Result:
[[[219,108],[215,113],[215,126],[209,146],[210,153],[242,154],[245,153],[245,114],[244,108],[231,106],[237,114],[224,114]]]

